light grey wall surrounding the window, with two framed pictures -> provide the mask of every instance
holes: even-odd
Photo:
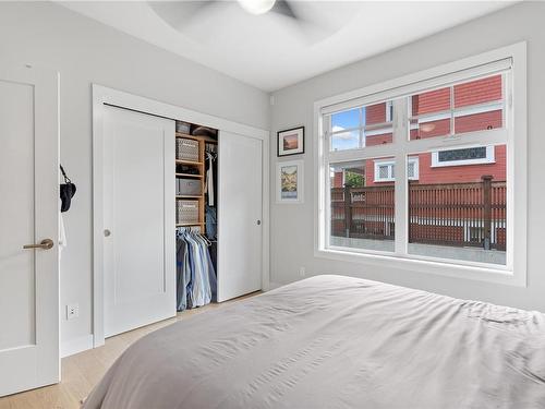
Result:
[[[301,205],[271,203],[270,280],[286,284],[306,276],[344,274],[420,288],[463,299],[545,312],[545,3],[524,2],[474,20],[389,52],[330,71],[308,81],[275,92],[271,134],[282,129],[305,125],[304,197]],[[364,263],[338,262],[314,256],[315,171],[313,151],[313,104],[315,100],[364,87],[460,58],[528,40],[528,124],[529,124],[529,220],[528,288],[428,275],[415,270],[371,267]],[[271,187],[275,187],[276,137],[271,139]],[[289,157],[291,160],[298,157]],[[274,189],[274,188],[272,188]],[[271,197],[275,197],[272,192]]]

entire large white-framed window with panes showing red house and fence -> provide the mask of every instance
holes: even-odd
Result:
[[[512,46],[318,101],[318,254],[525,282],[524,61]]]

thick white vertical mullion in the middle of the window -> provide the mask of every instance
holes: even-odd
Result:
[[[398,255],[407,254],[409,238],[407,222],[407,148],[409,135],[408,98],[393,101],[393,147],[396,151],[395,177],[395,252]]]

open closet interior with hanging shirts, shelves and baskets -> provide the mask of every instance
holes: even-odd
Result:
[[[217,301],[218,131],[177,122],[177,310]]]

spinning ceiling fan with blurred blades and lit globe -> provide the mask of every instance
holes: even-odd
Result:
[[[237,7],[241,12],[251,16],[282,16],[286,21],[298,25],[306,39],[315,43],[337,32],[340,26],[331,24],[331,19],[319,19],[318,23],[316,21],[318,16],[312,12],[313,4],[311,3],[296,0],[148,0],[148,4],[156,14],[179,32],[186,32],[191,23],[197,21],[197,17],[204,13],[221,14],[227,11],[227,8]]]

